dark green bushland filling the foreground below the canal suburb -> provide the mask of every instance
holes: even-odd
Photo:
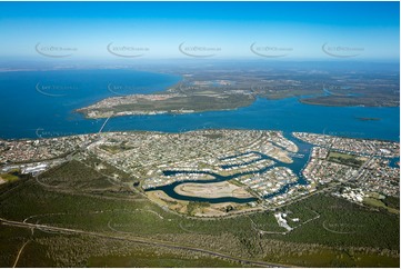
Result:
[[[22,179],[0,188],[0,217],[9,220],[142,238],[207,249],[231,257],[307,267],[399,267],[399,216],[325,195],[315,195],[280,209],[294,228],[287,235],[273,211],[235,218],[187,218],[150,202],[141,193],[93,191],[104,176],[76,161],[41,178]],[[82,163],[81,163],[82,165]],[[60,180],[69,178],[70,182]],[[88,180],[84,185],[83,181]],[[299,221],[292,219],[299,218]],[[290,220],[291,219],[291,220]],[[329,229],[327,229],[329,228]],[[260,231],[264,231],[263,235]],[[0,226],[0,266],[12,267],[241,267],[212,256],[74,233]]]

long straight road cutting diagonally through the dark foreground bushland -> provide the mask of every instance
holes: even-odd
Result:
[[[288,266],[283,266],[283,265],[270,263],[270,262],[264,262],[264,261],[254,261],[254,260],[247,260],[247,259],[235,258],[235,257],[231,257],[229,255],[224,255],[224,253],[220,253],[220,252],[215,252],[215,251],[211,251],[211,250],[186,247],[186,246],[179,246],[179,245],[174,245],[174,243],[171,243],[171,242],[164,242],[164,241],[159,241],[159,240],[149,239],[149,238],[119,237],[119,236],[112,236],[112,235],[107,235],[107,233],[101,233],[101,232],[84,231],[84,230],[78,230],[78,229],[69,229],[69,228],[61,228],[61,227],[54,227],[54,226],[34,225],[34,223],[29,223],[29,222],[7,220],[7,219],[3,219],[3,218],[0,218],[0,223],[6,225],[6,226],[20,227],[20,228],[29,228],[29,229],[36,228],[36,229],[41,229],[41,230],[47,230],[47,231],[86,235],[86,236],[107,238],[107,239],[112,239],[112,240],[123,240],[123,241],[142,243],[142,245],[150,245],[150,246],[156,246],[156,247],[164,247],[164,248],[170,248],[170,249],[187,250],[187,251],[192,251],[192,252],[198,252],[198,253],[210,255],[210,256],[213,256],[213,257],[217,257],[217,258],[228,259],[228,260],[231,260],[231,261],[241,262],[241,263],[249,265],[249,266],[270,267],[270,268],[271,267],[288,267]],[[20,250],[20,252],[21,252],[21,250]],[[18,253],[18,258],[20,256],[20,252]]]

